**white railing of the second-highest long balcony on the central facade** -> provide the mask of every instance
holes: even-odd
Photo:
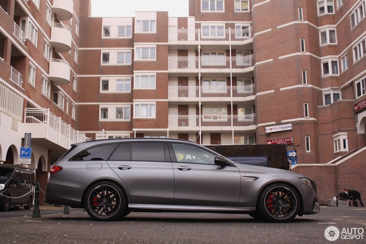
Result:
[[[245,69],[253,66],[253,54],[232,57],[232,69]],[[229,57],[168,57],[168,69],[230,69]]]

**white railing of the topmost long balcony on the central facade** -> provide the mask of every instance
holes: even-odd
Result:
[[[169,30],[168,41],[244,41],[252,36],[252,27],[240,30]]]

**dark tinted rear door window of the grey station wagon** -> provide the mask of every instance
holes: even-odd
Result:
[[[131,148],[134,161],[165,161],[164,143],[131,143]]]

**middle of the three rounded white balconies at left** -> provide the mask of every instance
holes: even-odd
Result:
[[[51,45],[57,52],[68,52],[71,50],[71,28],[61,23],[52,23]]]

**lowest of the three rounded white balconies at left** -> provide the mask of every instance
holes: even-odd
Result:
[[[70,83],[70,64],[62,59],[51,59],[49,61],[49,76],[55,85],[66,85]]]

